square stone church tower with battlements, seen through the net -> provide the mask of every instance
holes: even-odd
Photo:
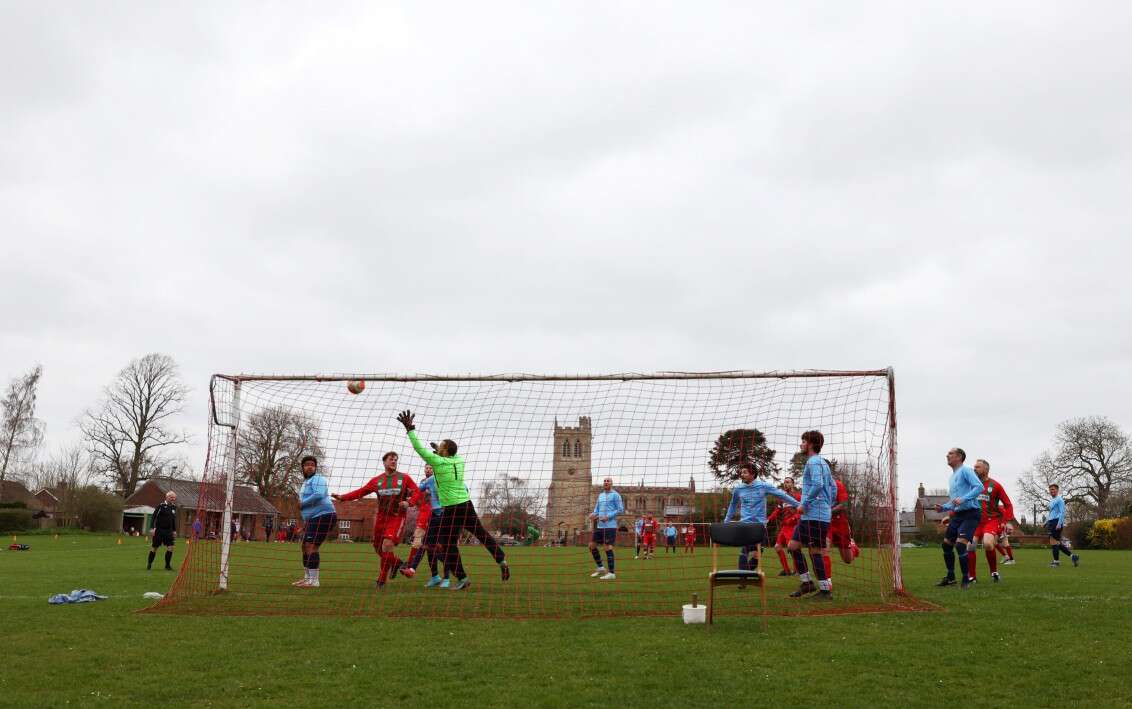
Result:
[[[591,444],[593,432],[590,417],[577,419],[577,426],[559,426],[555,419],[555,455],[547,490],[547,535],[551,540],[590,530],[589,513],[593,510]]]

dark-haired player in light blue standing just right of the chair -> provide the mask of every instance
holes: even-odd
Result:
[[[806,456],[806,467],[801,472],[801,504],[798,506],[798,524],[794,528],[790,544],[787,548],[794,556],[794,567],[798,571],[801,584],[790,593],[790,598],[801,598],[817,591],[818,600],[832,600],[833,587],[825,570],[825,538],[830,535],[832,507],[837,501],[838,486],[833,481],[830,464],[820,455],[825,437],[820,430],[807,430],[801,434],[800,451]],[[809,550],[814,562],[814,573],[817,584],[809,574],[809,566],[801,548]]]

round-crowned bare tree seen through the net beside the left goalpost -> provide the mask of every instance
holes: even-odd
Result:
[[[291,495],[302,480],[299,462],[320,456],[318,424],[286,407],[256,411],[240,424],[237,475],[265,497]]]

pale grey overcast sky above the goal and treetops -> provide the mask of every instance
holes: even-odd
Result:
[[[780,5],[780,3],[779,3]],[[799,3],[791,3],[798,6]],[[1132,428],[1132,5],[0,3],[0,376],[897,373]]]

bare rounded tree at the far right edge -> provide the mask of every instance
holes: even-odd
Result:
[[[1054,447],[1022,475],[1022,498],[1045,507],[1056,484],[1069,503],[1098,519],[1132,488],[1132,443],[1120,426],[1103,416],[1063,421]]]

